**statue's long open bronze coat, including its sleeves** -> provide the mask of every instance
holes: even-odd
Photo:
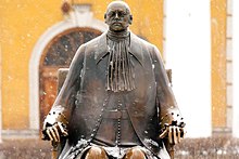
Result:
[[[136,89],[122,93],[130,121],[148,149],[158,156],[167,154],[163,142],[159,140],[159,122],[169,107],[177,108],[177,105],[160,52],[133,32],[129,52],[136,72]],[[105,32],[83,44],[51,109],[51,112],[63,112],[66,116],[70,147],[80,138],[90,141],[96,135],[102,108],[112,93],[105,91],[108,58]]]

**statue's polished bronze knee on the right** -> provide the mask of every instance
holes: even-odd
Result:
[[[146,155],[139,147],[126,151],[124,159],[146,159]]]

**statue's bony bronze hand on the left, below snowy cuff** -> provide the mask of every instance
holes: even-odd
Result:
[[[61,122],[55,122],[51,127],[47,127],[45,130],[45,134],[53,142],[60,142],[61,136],[67,136],[68,133],[66,132],[65,128]]]

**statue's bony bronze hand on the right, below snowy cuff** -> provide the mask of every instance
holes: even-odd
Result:
[[[178,125],[165,125],[165,130],[160,134],[160,138],[168,138],[169,144],[175,145],[180,143],[181,138],[185,137],[186,130]]]

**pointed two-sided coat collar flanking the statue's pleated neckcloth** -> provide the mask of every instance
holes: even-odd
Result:
[[[143,64],[142,43],[140,42],[138,37],[133,32],[130,32],[129,36],[130,36],[129,53],[142,65]],[[98,44],[96,47],[97,47],[96,48],[97,51],[95,54],[95,59],[96,63],[99,64],[105,56],[109,55],[109,49],[106,45],[106,31],[99,37]]]

